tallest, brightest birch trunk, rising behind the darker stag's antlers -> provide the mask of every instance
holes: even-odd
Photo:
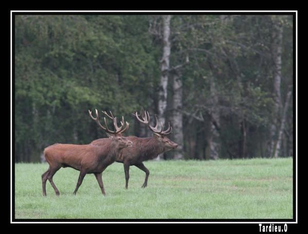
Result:
[[[171,15],[163,15],[163,57],[161,59],[161,81],[159,87],[159,101],[158,101],[158,114],[159,122],[165,125],[165,111],[167,107],[167,85],[168,85],[168,71],[169,71],[169,57],[171,50],[170,43],[170,19]],[[163,159],[163,155],[158,158]]]

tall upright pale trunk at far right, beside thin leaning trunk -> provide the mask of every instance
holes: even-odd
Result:
[[[281,110],[281,49],[282,49],[282,25],[274,22],[274,29],[272,32],[272,57],[273,57],[273,77],[274,77],[274,119],[271,125],[271,145],[269,146],[270,157],[274,155],[275,142],[277,139],[278,118]]]

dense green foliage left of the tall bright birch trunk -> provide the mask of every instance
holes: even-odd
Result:
[[[151,103],[159,73],[149,42],[142,15],[16,15],[16,160],[103,136],[89,131],[88,109],[128,118]]]

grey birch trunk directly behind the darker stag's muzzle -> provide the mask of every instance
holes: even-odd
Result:
[[[175,142],[178,143],[178,148],[174,150],[174,159],[183,159],[183,114],[182,110],[182,80],[181,75],[177,72],[173,76],[173,112],[172,112],[172,133]]]

